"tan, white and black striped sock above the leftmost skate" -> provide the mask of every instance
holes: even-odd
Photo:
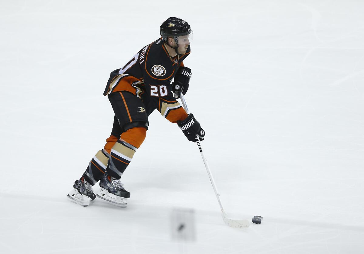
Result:
[[[94,158],[88,163],[88,167],[83,174],[87,182],[94,185],[97,183],[105,173],[109,155],[105,151],[98,151]]]

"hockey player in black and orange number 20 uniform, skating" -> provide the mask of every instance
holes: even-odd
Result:
[[[88,206],[96,198],[92,186],[100,181],[97,197],[127,206],[130,193],[120,177],[143,143],[148,116],[155,109],[177,123],[190,141],[195,142],[195,135],[201,140],[205,136],[194,116],[187,115],[176,100],[189,88],[191,69],[183,65],[183,60],[190,54],[193,31],[176,17],[164,21],[159,31],[161,38],[143,47],[123,68],[111,72],[104,91],[115,113],[111,135],[75,181],[68,194],[71,201]]]

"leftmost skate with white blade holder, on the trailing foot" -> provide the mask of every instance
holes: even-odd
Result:
[[[87,182],[84,177],[76,180],[73,185],[73,190],[67,195],[72,202],[81,206],[88,206],[90,202],[93,202],[96,198],[94,190],[92,190],[91,183]]]

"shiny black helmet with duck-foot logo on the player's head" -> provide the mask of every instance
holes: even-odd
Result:
[[[173,37],[174,41],[178,44],[178,36],[188,35],[192,32],[191,26],[178,17],[170,17],[163,22],[159,29],[163,41],[167,41],[168,37]]]

